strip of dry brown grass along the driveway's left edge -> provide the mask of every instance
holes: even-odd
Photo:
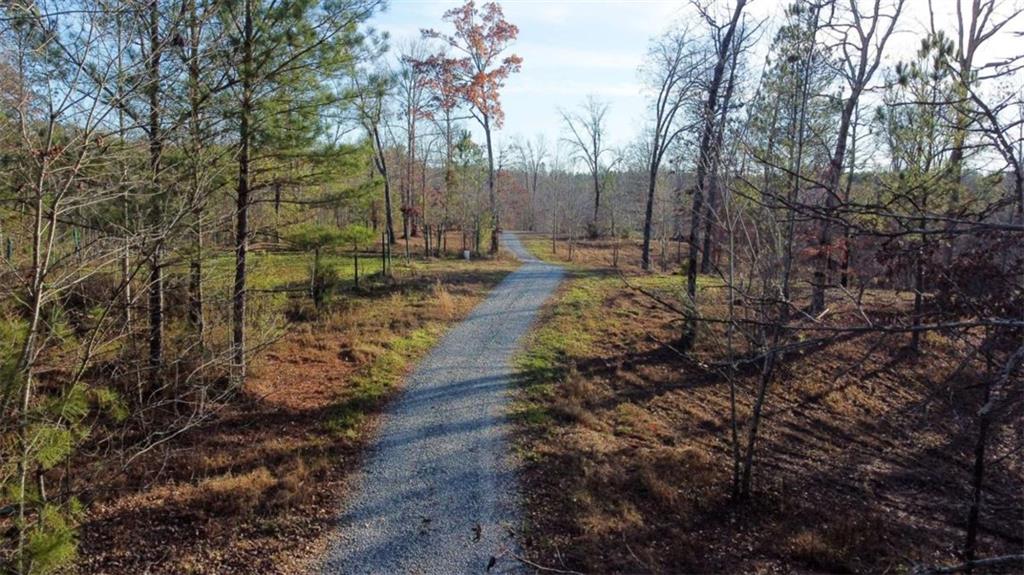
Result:
[[[240,397],[94,493],[78,572],[302,572],[403,369],[515,265],[417,261],[292,324]]]

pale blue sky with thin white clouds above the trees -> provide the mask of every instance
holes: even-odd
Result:
[[[763,60],[785,2],[754,0],[748,8],[752,17],[768,20],[762,45],[752,60],[755,70]],[[459,3],[390,0],[388,9],[371,25],[391,35],[394,49],[419,38],[422,28],[450,30],[441,23],[441,14]],[[572,108],[589,94],[609,103],[607,139],[612,145],[635,139],[647,110],[637,71],[650,39],[692,17],[689,2],[684,0],[504,0],[501,4],[506,18],[519,27],[519,39],[512,49],[523,57],[523,68],[505,89],[506,122],[497,140],[501,143],[515,135],[534,138],[543,133],[549,148],[563,132],[558,109]],[[726,4],[731,2],[722,3]],[[952,0],[934,0],[934,6],[937,25],[951,32],[955,21]],[[888,64],[916,49],[928,27],[928,0],[907,0],[901,32],[887,49]],[[1024,28],[1020,21],[1024,17],[1018,20],[1012,29]],[[1019,53],[1021,44],[1024,41],[1020,39],[998,37],[982,57]]]

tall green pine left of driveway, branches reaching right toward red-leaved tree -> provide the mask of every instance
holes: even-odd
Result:
[[[321,115],[336,97],[331,81],[350,71],[366,43],[358,25],[380,0],[233,0],[221,8],[233,67],[229,118],[237,130],[232,360],[245,380],[249,215],[259,165],[313,146],[327,128]]]

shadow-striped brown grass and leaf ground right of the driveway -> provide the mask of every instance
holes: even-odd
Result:
[[[730,496],[726,382],[669,348],[679,334],[671,312],[614,276],[587,279],[602,270],[577,277],[563,298],[588,285],[592,302],[573,315],[563,300],[547,317],[556,333],[587,324],[589,345],[571,348],[568,369],[549,369],[561,374],[548,393],[524,390],[531,413],[550,415],[523,423],[518,438],[531,559],[594,573],[881,573],[958,561],[981,399],[970,368],[946,377],[961,343],[932,338],[912,357],[899,337],[864,337],[786,357],[755,496],[740,504]],[[673,282],[681,278],[649,276]],[[706,309],[720,311],[714,290],[705,294]],[[879,313],[905,305],[871,298]],[[844,321],[842,302],[830,305],[830,320]],[[720,357],[715,340],[706,334],[698,358]],[[756,378],[736,380],[741,426]],[[1000,455],[987,470],[981,555],[1024,544],[1024,417],[1007,421],[991,447]]]

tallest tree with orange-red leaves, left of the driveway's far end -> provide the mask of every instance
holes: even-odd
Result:
[[[469,113],[483,128],[487,142],[487,192],[490,200],[490,217],[494,232],[490,252],[498,251],[500,217],[495,194],[495,154],[490,143],[492,128],[501,128],[505,121],[502,112],[501,90],[505,81],[522,68],[522,58],[515,54],[504,55],[509,45],[519,35],[519,29],[505,19],[497,2],[476,7],[468,0],[458,8],[444,12],[444,21],[455,27],[454,34],[436,30],[423,30],[423,37],[440,40],[451,49],[419,61],[418,64],[432,72],[435,77],[451,82],[460,99],[469,106]]]

